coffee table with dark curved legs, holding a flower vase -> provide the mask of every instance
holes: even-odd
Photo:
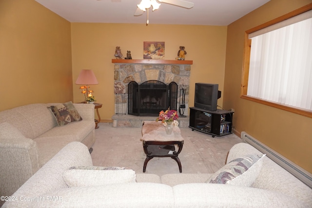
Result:
[[[174,159],[182,172],[179,153],[182,151],[184,139],[181,136],[179,127],[174,127],[172,134],[166,134],[165,127],[158,121],[143,121],[142,137],[143,150],[146,158],[143,165],[143,172],[146,170],[148,161],[154,157],[171,157]],[[176,147],[178,147],[176,151]]]

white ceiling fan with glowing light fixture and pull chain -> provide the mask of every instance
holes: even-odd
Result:
[[[162,2],[162,3],[168,3],[174,6],[180,6],[180,7],[187,8],[187,9],[191,9],[194,7],[193,2],[189,2],[185,0],[141,0],[141,2],[137,4],[137,11],[135,12],[134,16],[142,15],[147,9],[146,25],[148,25],[149,23],[148,10],[151,6],[153,7],[153,11],[158,9],[160,6],[160,3],[158,3],[157,1]]]

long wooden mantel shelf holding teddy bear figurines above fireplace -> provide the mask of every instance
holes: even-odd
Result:
[[[112,63],[182,64],[182,65],[192,65],[192,64],[193,64],[193,60],[112,59]]]

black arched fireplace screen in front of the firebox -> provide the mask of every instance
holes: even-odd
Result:
[[[176,110],[177,84],[150,80],[128,84],[128,114],[157,116],[161,110]]]

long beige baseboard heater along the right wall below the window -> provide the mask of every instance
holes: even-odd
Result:
[[[312,188],[312,174],[306,170],[303,170],[298,165],[294,164],[292,161],[288,160],[284,156],[280,155],[276,151],[259,142],[257,139],[252,137],[246,132],[241,132],[240,137],[246,143],[254,146],[257,150],[266,154],[271,160],[277,163],[279,166],[290,172],[296,178],[301,180],[303,183]]]

